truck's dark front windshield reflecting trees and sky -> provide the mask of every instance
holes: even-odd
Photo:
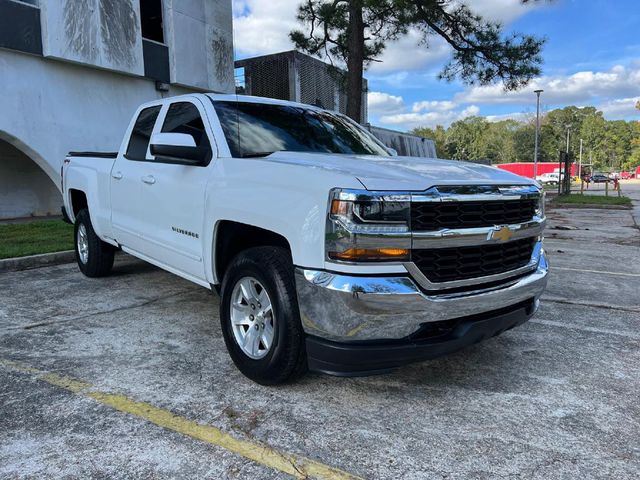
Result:
[[[279,151],[389,156],[360,126],[329,112],[248,102],[213,105],[233,157]]]

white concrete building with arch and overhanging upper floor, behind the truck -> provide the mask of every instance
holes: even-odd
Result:
[[[58,214],[69,150],[142,102],[234,91],[231,0],[0,0],[0,218]]]

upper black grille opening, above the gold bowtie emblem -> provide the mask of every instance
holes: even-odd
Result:
[[[477,228],[525,223],[533,219],[538,200],[413,202],[411,229],[414,232],[444,228]]]

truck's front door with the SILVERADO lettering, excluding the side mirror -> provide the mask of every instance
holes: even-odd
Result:
[[[181,98],[163,108],[155,131],[189,134],[197,146],[208,148],[209,155],[204,166],[158,159],[146,164],[140,195],[144,253],[191,279],[205,280],[204,205],[214,157],[205,110],[197,98]]]

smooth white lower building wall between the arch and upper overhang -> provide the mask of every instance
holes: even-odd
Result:
[[[70,150],[120,148],[135,109],[191,89],[66,62],[0,51],[0,138],[17,146],[58,184]]]

